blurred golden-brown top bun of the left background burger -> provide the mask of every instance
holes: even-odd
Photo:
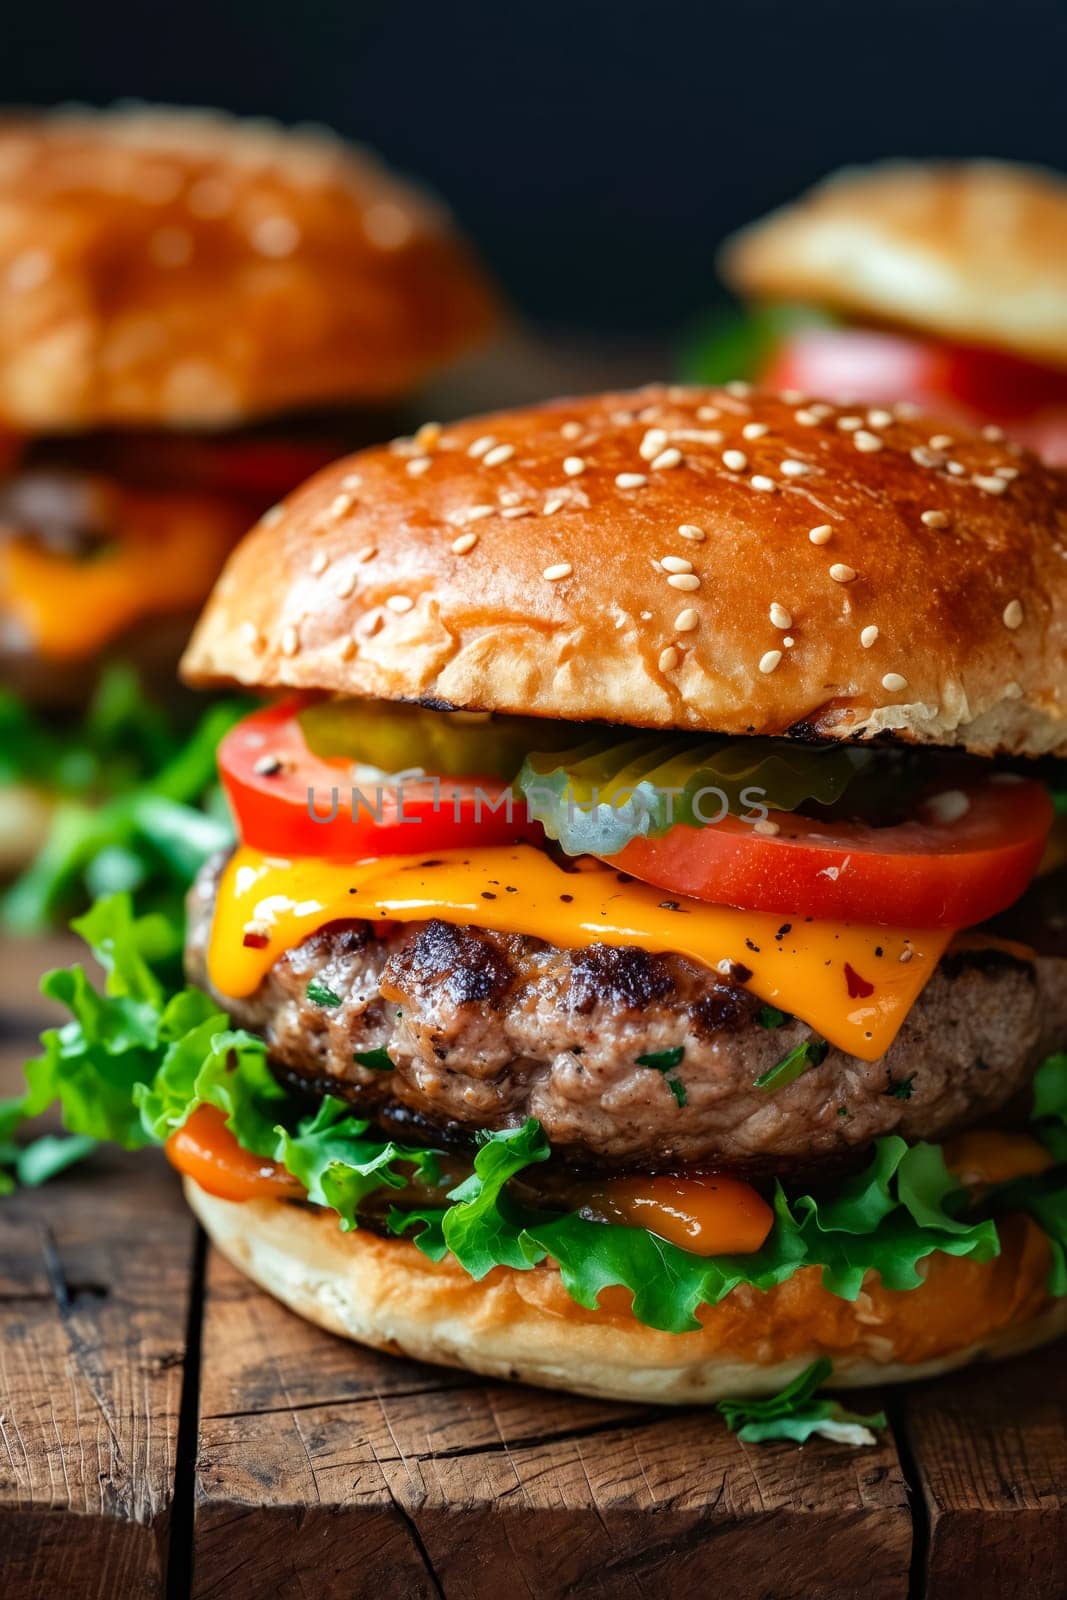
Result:
[[[402,394],[491,320],[366,154],[218,112],[0,122],[0,422],[222,424]]]

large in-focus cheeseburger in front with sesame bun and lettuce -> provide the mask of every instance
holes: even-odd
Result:
[[[165,1142],[270,1293],[478,1373],[713,1400],[1062,1330],[1067,486],[845,414],[595,395],[286,498],[184,658],[266,696],[189,987],[96,906],[109,997],[46,981],[18,1114]]]

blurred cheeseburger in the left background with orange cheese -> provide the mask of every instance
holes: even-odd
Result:
[[[99,800],[178,754],[122,674],[77,725],[101,664],[173,683],[248,523],[382,437],[490,320],[438,210],[325,133],[0,120],[0,869],[54,794]],[[45,877],[22,912],[58,894]]]

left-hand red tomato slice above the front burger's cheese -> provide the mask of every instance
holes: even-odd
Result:
[[[219,773],[246,845],[362,861],[544,837],[498,778],[355,782],[349,762],[307,749],[299,707],[283,701],[253,712],[219,746]]]

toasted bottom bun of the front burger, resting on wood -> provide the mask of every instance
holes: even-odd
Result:
[[[622,1290],[606,1290],[598,1310],[577,1306],[547,1264],[475,1282],[406,1240],[342,1234],[331,1211],[219,1200],[189,1178],[186,1197],[235,1267],[331,1333],[609,1400],[771,1394],[821,1355],[833,1362],[832,1387],[902,1382],[1014,1355],[1067,1328],[1067,1301],[1045,1288],[1048,1242],[1024,1216],[1001,1224],[995,1261],[929,1256],[917,1290],[870,1282],[849,1302],[805,1267],[773,1290],[742,1286],[701,1307],[699,1331],[659,1333],[633,1318]]]

